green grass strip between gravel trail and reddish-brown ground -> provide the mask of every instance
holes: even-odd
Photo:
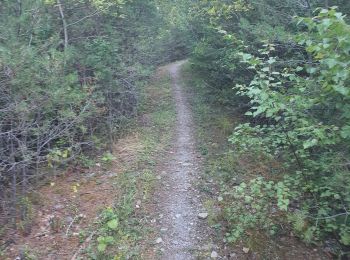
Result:
[[[147,247],[144,241],[149,241],[153,232],[145,222],[148,212],[144,205],[152,197],[156,184],[156,162],[173,136],[175,106],[169,75],[162,75],[140,92],[139,114],[147,115],[150,122],[133,129],[138,133],[142,149],[135,151],[135,161],[124,165],[123,173],[115,177],[114,188],[119,195],[114,205],[98,217],[96,235],[86,252],[91,259],[143,259]],[[136,209],[138,201],[142,201],[142,206]],[[118,225],[111,228],[110,221]]]

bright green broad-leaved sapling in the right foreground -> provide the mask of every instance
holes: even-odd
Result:
[[[306,241],[337,234],[343,243],[350,206],[347,184],[344,186],[349,182],[349,170],[342,159],[350,151],[346,134],[350,27],[335,9],[322,9],[317,17],[300,22],[307,24],[308,32],[299,34],[298,42],[305,44],[315,62],[283,67],[273,56],[273,44],[266,44],[258,57],[242,53],[242,60],[256,76],[249,86],[237,85],[237,93],[250,99],[246,115],[263,123],[239,126],[230,141],[241,151],[259,147],[283,158],[290,169],[285,176],[293,182],[279,183],[292,190],[291,199],[300,204],[290,212],[296,216],[297,232]],[[276,196],[280,197],[278,190]],[[277,204],[287,210],[290,202]],[[302,221],[300,216],[304,216]]]

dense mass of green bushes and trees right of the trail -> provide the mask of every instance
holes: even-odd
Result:
[[[333,4],[339,8],[313,17],[314,8]],[[350,244],[350,27],[338,10],[349,4],[203,1],[193,10],[205,21],[197,24],[193,68],[212,100],[245,109],[246,122],[230,137],[234,152],[282,163],[277,173],[232,187],[228,239],[253,228],[277,234],[284,221],[341,254]]]

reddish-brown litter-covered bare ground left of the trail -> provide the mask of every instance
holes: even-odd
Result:
[[[74,256],[87,245],[82,242],[90,242],[99,213],[113,206],[120,196],[113,182],[123,173],[124,165],[136,161],[141,150],[138,138],[131,134],[114,144],[113,153],[118,160],[112,165],[68,170],[33,192],[31,231],[24,234],[21,228],[7,230],[3,241],[12,244],[0,259],[26,259],[25,254],[39,260],[76,259]]]

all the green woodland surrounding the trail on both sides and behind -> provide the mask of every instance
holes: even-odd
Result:
[[[227,170],[227,239],[287,223],[348,254],[349,15],[347,0],[2,0],[1,226],[110,149],[157,66],[190,58],[207,101],[240,115],[224,156],[279,165],[238,184]]]

